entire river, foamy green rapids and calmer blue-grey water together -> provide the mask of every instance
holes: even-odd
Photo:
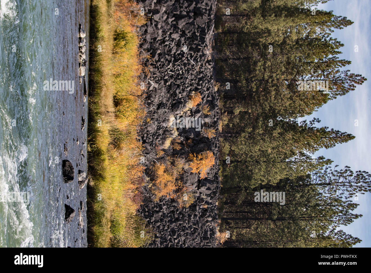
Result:
[[[88,86],[79,83],[79,24],[88,33],[87,0],[1,0],[1,247],[86,246],[86,186],[79,189],[77,172],[87,168]],[[47,90],[50,79],[69,81],[70,90]],[[63,159],[75,168],[72,183],[63,182]],[[65,204],[76,211],[69,224]]]

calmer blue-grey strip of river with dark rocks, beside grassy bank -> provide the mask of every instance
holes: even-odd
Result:
[[[73,14],[71,22],[59,24],[56,38],[58,56],[63,62],[54,65],[55,78],[72,78],[75,90],[56,93],[55,114],[59,128],[60,153],[58,157],[60,180],[53,185],[57,213],[49,221],[53,227],[49,237],[51,246],[87,247],[86,182],[87,182],[87,126],[88,117],[88,56],[89,56],[89,1],[74,3],[76,9],[68,9],[72,3],[59,8],[60,14]],[[62,20],[62,16],[56,18]],[[55,197],[54,197],[55,196]],[[46,244],[48,245],[48,244]]]

